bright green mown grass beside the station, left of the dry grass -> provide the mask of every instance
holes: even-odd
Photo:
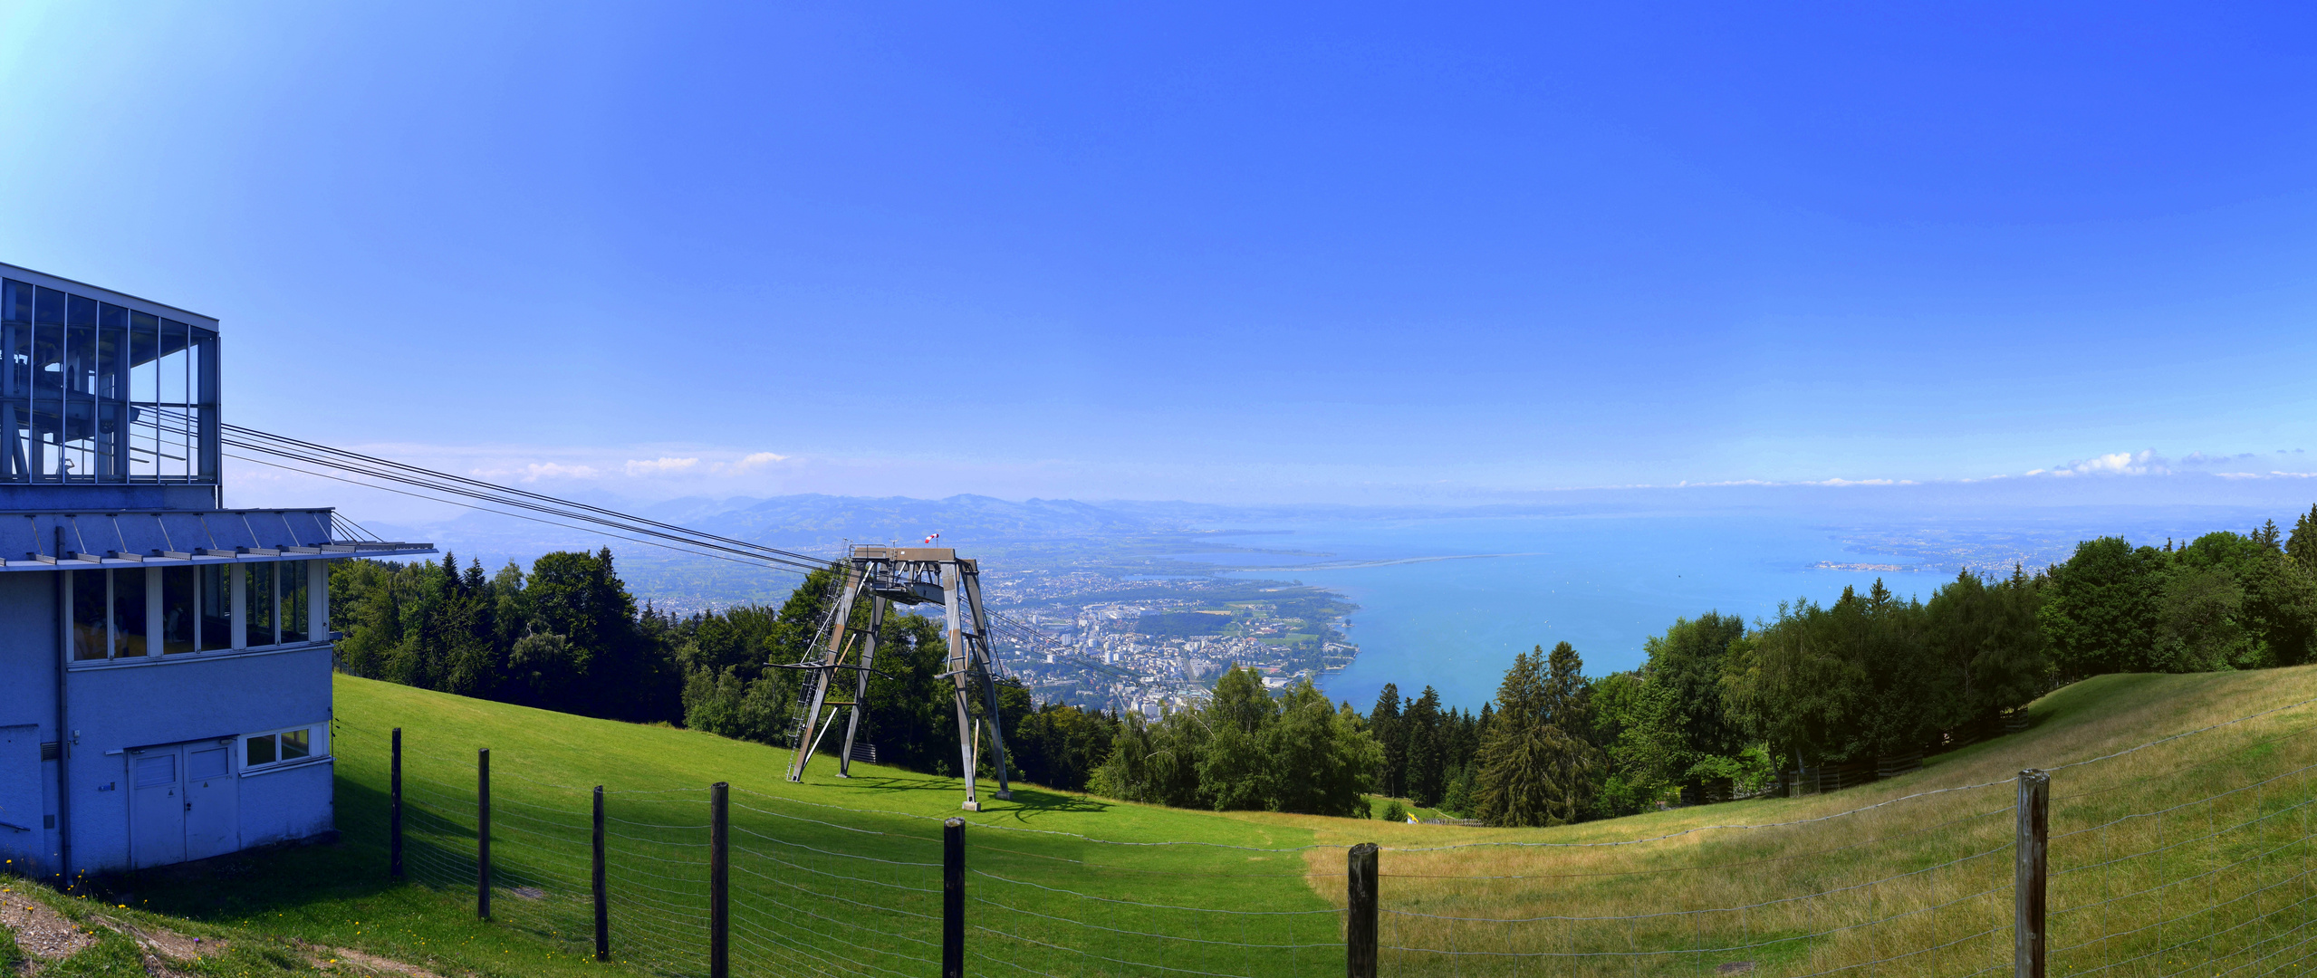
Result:
[[[1342,969],[1339,913],[1307,883],[1300,853],[1281,851],[1311,844],[1304,827],[1031,786],[1001,802],[989,781],[980,786],[985,809],[962,813],[955,779],[855,765],[841,781],[820,758],[790,783],[781,749],[361,679],[338,684],[334,753],[348,851],[375,851],[368,839],[382,837],[371,802],[385,786],[385,735],[396,725],[405,732],[412,878],[456,899],[473,892],[475,749],[489,746],[503,888],[494,915],[572,957],[591,941],[589,790],[602,783],[614,957],[660,973],[704,969],[707,786],[728,781],[741,973],[938,971],[948,816],[971,823],[975,971],[1117,973],[1119,962],[1216,973]],[[1203,846],[1147,846],[1170,841]]]

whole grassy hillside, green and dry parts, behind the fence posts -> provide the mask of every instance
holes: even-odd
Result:
[[[966,813],[969,973],[1342,973],[1342,846],[1355,841],[1386,846],[1393,973],[1715,973],[1735,962],[1972,973],[2009,962],[2013,786],[1969,786],[2310,698],[2310,667],[2102,677],[2037,702],[2030,732],[1902,779],[1555,830],[1170,811],[1019,786],[996,802],[985,786],[987,811]],[[2312,895],[2312,721],[2317,709],[2296,707],[2060,769],[2053,973],[2292,971]],[[382,881],[396,725],[410,751],[405,888]],[[494,767],[489,925],[470,918],[477,746]],[[823,758],[788,783],[781,749],[348,677],[334,753],[343,844],[243,857],[229,874],[120,881],[134,890],[123,902],[438,971],[605,973],[586,962],[589,788],[602,783],[621,959],[609,971],[700,973],[704,788],[730,781],[737,973],[938,971],[950,779],[855,765],[839,781]],[[1956,790],[1909,797],[1932,788]],[[1874,809],[1842,813],[1861,807]],[[1791,825],[1708,830],[1770,823]],[[1636,841],[1652,837],[1668,839]]]

